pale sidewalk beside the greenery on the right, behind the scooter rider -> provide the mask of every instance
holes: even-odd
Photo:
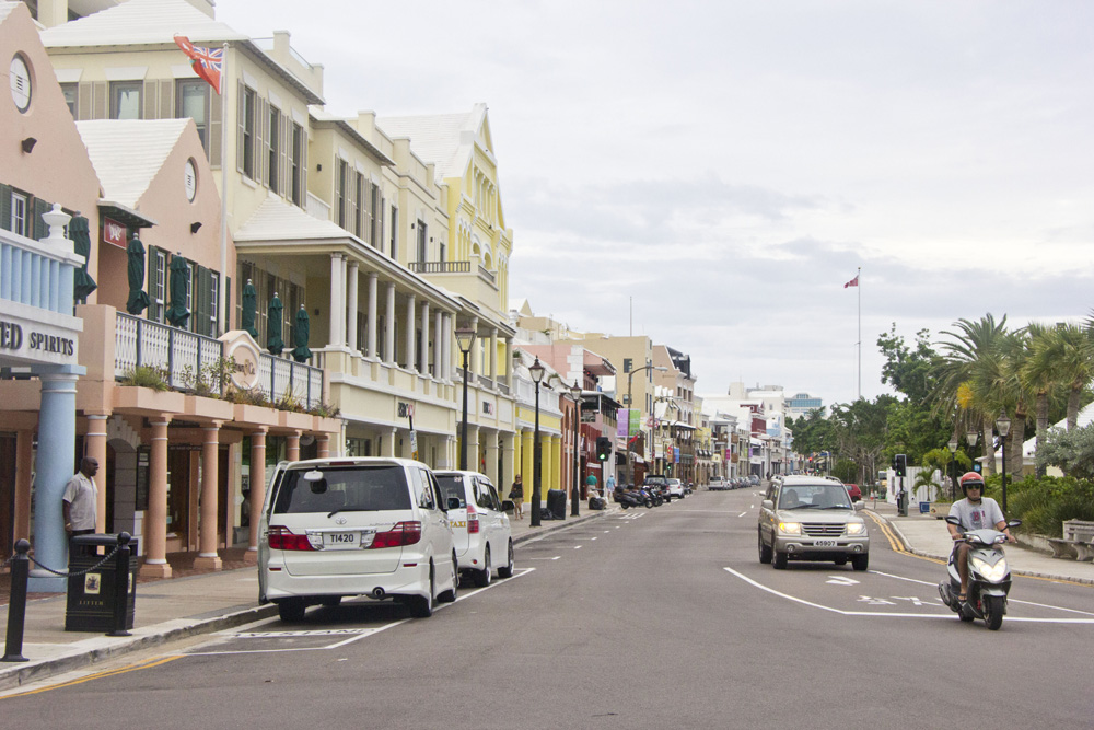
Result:
[[[908,517],[897,517],[896,505],[878,501],[875,506],[872,499],[863,502],[866,511],[874,512],[893,528],[909,553],[940,560],[950,558],[953,541],[944,520],[918,512],[913,514],[910,509]],[[1094,586],[1094,563],[1054,558],[1023,544],[1021,536],[1016,544],[1006,545],[1005,551],[1006,561],[1014,575]]]

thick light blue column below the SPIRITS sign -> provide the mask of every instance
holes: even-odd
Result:
[[[70,373],[42,375],[38,453],[34,470],[34,559],[54,570],[68,566],[61,497],[74,474],[78,379],[79,375]],[[65,590],[63,578],[42,568],[31,569],[27,583],[31,593],[61,593]]]

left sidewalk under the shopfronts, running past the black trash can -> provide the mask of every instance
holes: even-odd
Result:
[[[609,505],[607,510],[593,512],[583,503],[578,518],[568,514],[565,520],[543,520],[539,528],[532,528],[531,510],[525,506],[524,519],[511,520],[513,543],[520,545],[618,509]],[[28,661],[0,663],[0,692],[187,636],[276,616],[274,604],[258,605],[258,575],[254,566],[244,567],[243,552],[221,551],[224,570],[217,572],[195,570],[193,554],[168,556],[176,577],[138,581],[135,626],[128,637],[66,631],[66,595],[32,593],[26,602],[22,653]],[[516,565],[521,565],[519,552]],[[0,630],[4,633],[10,594],[10,573],[0,575]]]

